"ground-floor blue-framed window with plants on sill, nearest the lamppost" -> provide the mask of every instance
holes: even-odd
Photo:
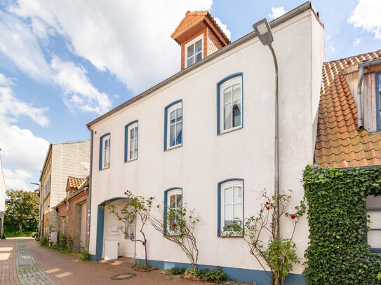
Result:
[[[224,228],[227,231],[233,230],[233,228],[229,228],[233,222],[240,224],[243,228],[243,179],[233,178],[218,182],[217,200],[217,236],[223,235]],[[242,234],[237,232],[237,235]]]

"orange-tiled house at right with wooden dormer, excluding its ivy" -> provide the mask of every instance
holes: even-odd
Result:
[[[380,113],[381,50],[324,63],[315,162],[322,167],[380,167]],[[380,253],[381,196],[368,195],[366,209],[370,251]]]

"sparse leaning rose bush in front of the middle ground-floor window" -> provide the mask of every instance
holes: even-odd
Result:
[[[161,207],[156,203],[158,214],[149,214],[149,223],[155,230],[161,232],[163,237],[180,246],[185,255],[192,264],[192,268],[196,268],[199,259],[199,249],[196,245],[196,237],[194,229],[196,223],[200,221],[199,214],[195,213],[195,209],[187,210],[187,205],[182,205],[176,209],[171,209],[167,205]]]

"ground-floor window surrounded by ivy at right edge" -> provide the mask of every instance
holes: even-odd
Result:
[[[367,242],[370,251],[381,253],[381,196],[368,195],[366,197],[366,214],[368,218]]]

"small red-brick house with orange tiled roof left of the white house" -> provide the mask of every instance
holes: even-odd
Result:
[[[66,193],[65,199],[55,206],[56,224],[60,234],[72,239],[73,251],[79,252],[87,246],[88,176],[68,176]]]

